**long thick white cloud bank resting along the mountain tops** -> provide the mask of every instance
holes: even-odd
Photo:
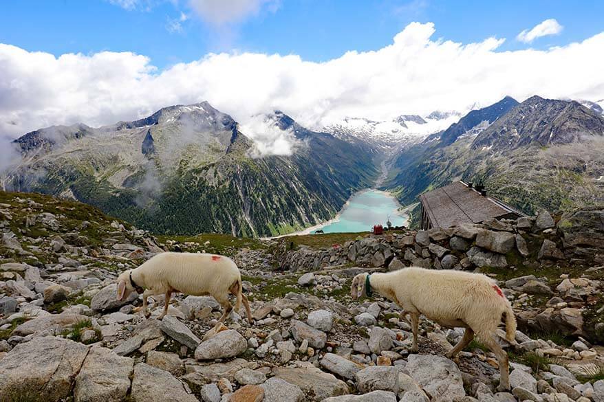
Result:
[[[113,124],[202,100],[239,122],[279,109],[312,129],[345,116],[382,120],[466,111],[506,95],[604,98],[604,33],[551,49],[508,52],[499,51],[501,38],[456,43],[432,39],[434,33],[432,23],[411,23],[390,45],[323,63],[294,54],[233,52],[161,70],[131,52],[57,57],[0,45],[0,135],[17,137],[53,124]]]

